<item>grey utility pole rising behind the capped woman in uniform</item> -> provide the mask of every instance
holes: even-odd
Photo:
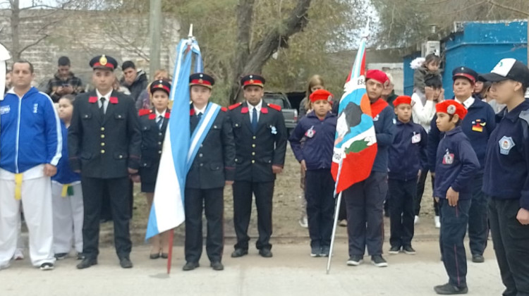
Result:
[[[150,40],[150,80],[154,80],[154,71],[160,68],[160,41],[162,30],[162,0],[150,0],[149,35]]]

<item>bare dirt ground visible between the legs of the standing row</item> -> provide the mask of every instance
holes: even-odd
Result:
[[[273,209],[273,234],[272,238],[275,242],[291,242],[308,239],[307,228],[300,227],[298,219],[300,217],[300,166],[298,161],[293,156],[293,153],[288,147],[286,151],[286,163],[284,171],[278,175],[274,190],[274,209]],[[437,235],[438,231],[433,224],[433,206],[432,206],[432,187],[430,178],[427,178],[425,194],[421,203],[421,223],[415,227],[415,237],[430,238]],[[145,229],[147,224],[147,203],[145,196],[140,192],[139,186],[135,186],[135,209],[133,214],[133,221],[131,223],[131,233],[136,244],[141,244],[144,240]],[[204,233],[205,232],[205,223]],[[389,218],[384,221],[386,233],[389,233]],[[185,225],[179,226],[176,229],[176,240],[182,241]],[[105,240],[104,235],[102,241],[111,242],[111,223],[104,223],[102,230],[109,233],[108,240]],[[224,230],[227,239],[235,237],[233,230],[233,197],[231,187],[226,187],[224,190]],[[257,237],[257,211],[255,205],[253,206],[252,218],[249,228],[250,237]],[[345,238],[346,229],[340,227],[336,235]],[[389,234],[387,235],[387,238]],[[253,241],[250,242],[253,244]]]

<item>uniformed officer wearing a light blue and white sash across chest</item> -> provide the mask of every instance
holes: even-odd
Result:
[[[191,135],[205,115],[214,79],[204,73],[190,75]],[[211,106],[210,106],[211,107]],[[198,148],[186,178],[184,206],[186,210],[186,265],[184,271],[197,268],[202,254],[202,209],[207,219],[206,252],[210,266],[221,271],[224,249],[224,185],[232,185],[235,175],[235,142],[228,111],[222,108],[204,141]],[[207,116],[204,116],[206,121]],[[206,124],[206,122],[204,122]]]

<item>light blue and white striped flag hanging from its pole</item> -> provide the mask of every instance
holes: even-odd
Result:
[[[173,106],[162,148],[145,240],[176,228],[186,220],[183,199],[190,148],[189,75],[193,58],[195,73],[202,72],[202,56],[194,39],[182,39],[176,47],[176,53],[174,78],[169,95]]]

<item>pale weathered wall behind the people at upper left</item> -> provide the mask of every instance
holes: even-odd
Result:
[[[0,11],[0,42],[11,48],[9,11]],[[49,37],[24,51],[22,58],[35,66],[35,85],[45,84],[56,73],[57,59],[68,56],[72,71],[83,82],[91,83],[92,69],[88,62],[93,56],[107,54],[118,60],[133,61],[137,68],[149,68],[148,13],[141,15],[116,14],[94,11],[59,11],[52,17],[42,17],[49,11],[24,11],[22,17],[34,18],[20,23],[20,43],[24,47],[38,39],[41,32]],[[51,21],[57,23],[43,30]],[[175,47],[180,39],[180,23],[174,18],[164,18],[161,46],[161,66],[173,71]],[[10,61],[12,63],[12,61]],[[121,77],[121,71],[116,73]]]

